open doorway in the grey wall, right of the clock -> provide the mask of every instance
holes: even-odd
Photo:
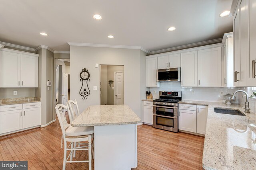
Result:
[[[124,104],[124,66],[100,64],[100,105]]]

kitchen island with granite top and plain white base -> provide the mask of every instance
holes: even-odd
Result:
[[[140,118],[126,105],[90,106],[71,125],[94,126],[94,169],[130,170],[137,166]]]

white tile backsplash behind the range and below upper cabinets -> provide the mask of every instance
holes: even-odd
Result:
[[[223,95],[228,93],[232,95],[238,89],[236,87],[181,87],[180,82],[164,82],[161,83],[161,87],[151,87],[150,91],[153,98],[159,98],[159,91],[182,91],[182,100],[223,102]],[[232,103],[239,102],[238,95],[236,95],[237,100]]]

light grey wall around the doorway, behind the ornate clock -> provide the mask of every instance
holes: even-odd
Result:
[[[70,46],[71,100],[78,101],[81,111],[91,105],[100,105],[100,68],[95,68],[95,63],[124,65],[124,104],[141,117],[140,72],[146,70],[140,70],[140,57],[139,49]],[[87,100],[79,95],[79,74],[83,68],[90,72],[91,94]],[[93,90],[93,86],[98,86],[98,90]]]

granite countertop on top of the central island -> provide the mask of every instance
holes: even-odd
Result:
[[[140,123],[140,118],[126,105],[98,105],[89,106],[83,111],[71,125],[102,126],[102,125],[124,125]]]

